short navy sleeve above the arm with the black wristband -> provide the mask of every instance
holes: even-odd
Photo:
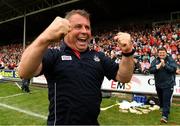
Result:
[[[119,69],[119,64],[115,61],[111,60],[110,57],[105,56],[104,53],[100,53],[100,57],[102,60],[102,66],[104,69],[105,76],[111,80],[116,80],[116,74]]]

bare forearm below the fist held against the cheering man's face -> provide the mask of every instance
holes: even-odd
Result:
[[[41,34],[22,54],[18,74],[22,78],[33,77],[39,69],[49,42]],[[40,70],[39,70],[40,71]]]

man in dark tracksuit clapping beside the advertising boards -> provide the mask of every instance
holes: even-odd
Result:
[[[157,96],[162,109],[161,122],[167,123],[171,98],[175,85],[176,62],[167,54],[166,48],[158,49],[158,57],[151,63],[150,73],[154,74]]]

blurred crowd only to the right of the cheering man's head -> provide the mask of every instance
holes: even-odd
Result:
[[[180,74],[180,25],[163,24],[155,26],[129,25],[119,26],[117,29],[97,33],[92,40],[92,48],[104,52],[116,62],[121,60],[121,50],[113,40],[118,31],[128,32],[136,53],[134,55],[134,73],[149,74],[149,67],[157,56],[157,49],[165,47],[169,55],[177,62],[177,74]]]

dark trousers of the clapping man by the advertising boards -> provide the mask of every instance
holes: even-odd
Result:
[[[173,90],[174,90],[173,87],[170,88],[156,87],[156,92],[159,99],[159,106],[162,109],[162,116],[165,116],[167,118],[170,113]]]

